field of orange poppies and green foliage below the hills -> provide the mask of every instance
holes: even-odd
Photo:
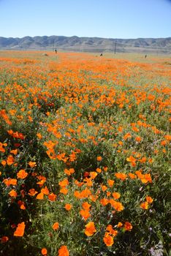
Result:
[[[0,255],[170,255],[167,56],[0,52]]]

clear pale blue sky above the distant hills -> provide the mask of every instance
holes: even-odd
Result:
[[[0,37],[171,37],[171,0],[0,0]]]

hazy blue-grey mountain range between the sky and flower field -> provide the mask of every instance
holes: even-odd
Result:
[[[171,37],[112,39],[100,37],[0,37],[0,50],[171,53]]]

